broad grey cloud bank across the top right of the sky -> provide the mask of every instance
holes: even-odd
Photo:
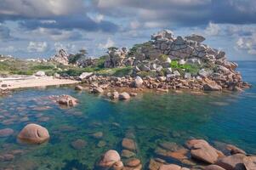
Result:
[[[118,8],[112,8],[118,6]],[[254,0],[94,0],[101,13],[114,17],[134,16],[148,22],[162,21],[169,26],[196,26],[214,23],[256,23]]]

